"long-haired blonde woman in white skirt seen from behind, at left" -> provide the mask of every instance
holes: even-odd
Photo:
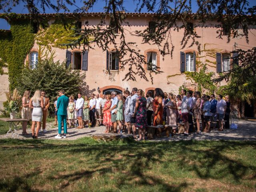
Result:
[[[44,107],[44,102],[41,97],[41,91],[36,90],[34,96],[29,101],[29,107],[33,109],[32,111],[32,138],[38,138],[38,132],[41,128],[41,121],[42,121],[42,107]],[[36,126],[36,134],[35,133],[35,126]]]

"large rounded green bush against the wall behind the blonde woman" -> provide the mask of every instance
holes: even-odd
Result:
[[[77,94],[84,86],[85,74],[80,74],[78,70],[66,68],[66,63],[54,62],[52,57],[38,60],[37,67],[30,69],[25,67],[22,71],[20,91],[30,89],[32,94],[36,90],[46,91],[53,104],[58,90],[63,89],[66,95]],[[53,105],[50,106],[53,111]]]

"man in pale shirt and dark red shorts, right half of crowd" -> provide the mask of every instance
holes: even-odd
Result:
[[[184,136],[188,136],[188,130],[189,130],[189,123],[188,123],[188,112],[189,112],[189,104],[188,104],[188,98],[186,96],[187,91],[182,89],[180,91],[180,95],[182,96],[182,102],[181,102],[181,114],[182,114],[182,121],[184,122]]]

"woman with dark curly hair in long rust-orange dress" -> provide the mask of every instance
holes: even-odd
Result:
[[[162,89],[160,88],[156,88],[155,89],[155,98],[153,100],[153,111],[154,111],[154,126],[157,125],[162,125],[163,124],[163,112],[164,112],[164,108],[162,106],[162,102],[163,102],[163,98],[164,98],[164,92],[162,91]],[[161,135],[161,128],[157,129],[157,134],[158,136]]]

